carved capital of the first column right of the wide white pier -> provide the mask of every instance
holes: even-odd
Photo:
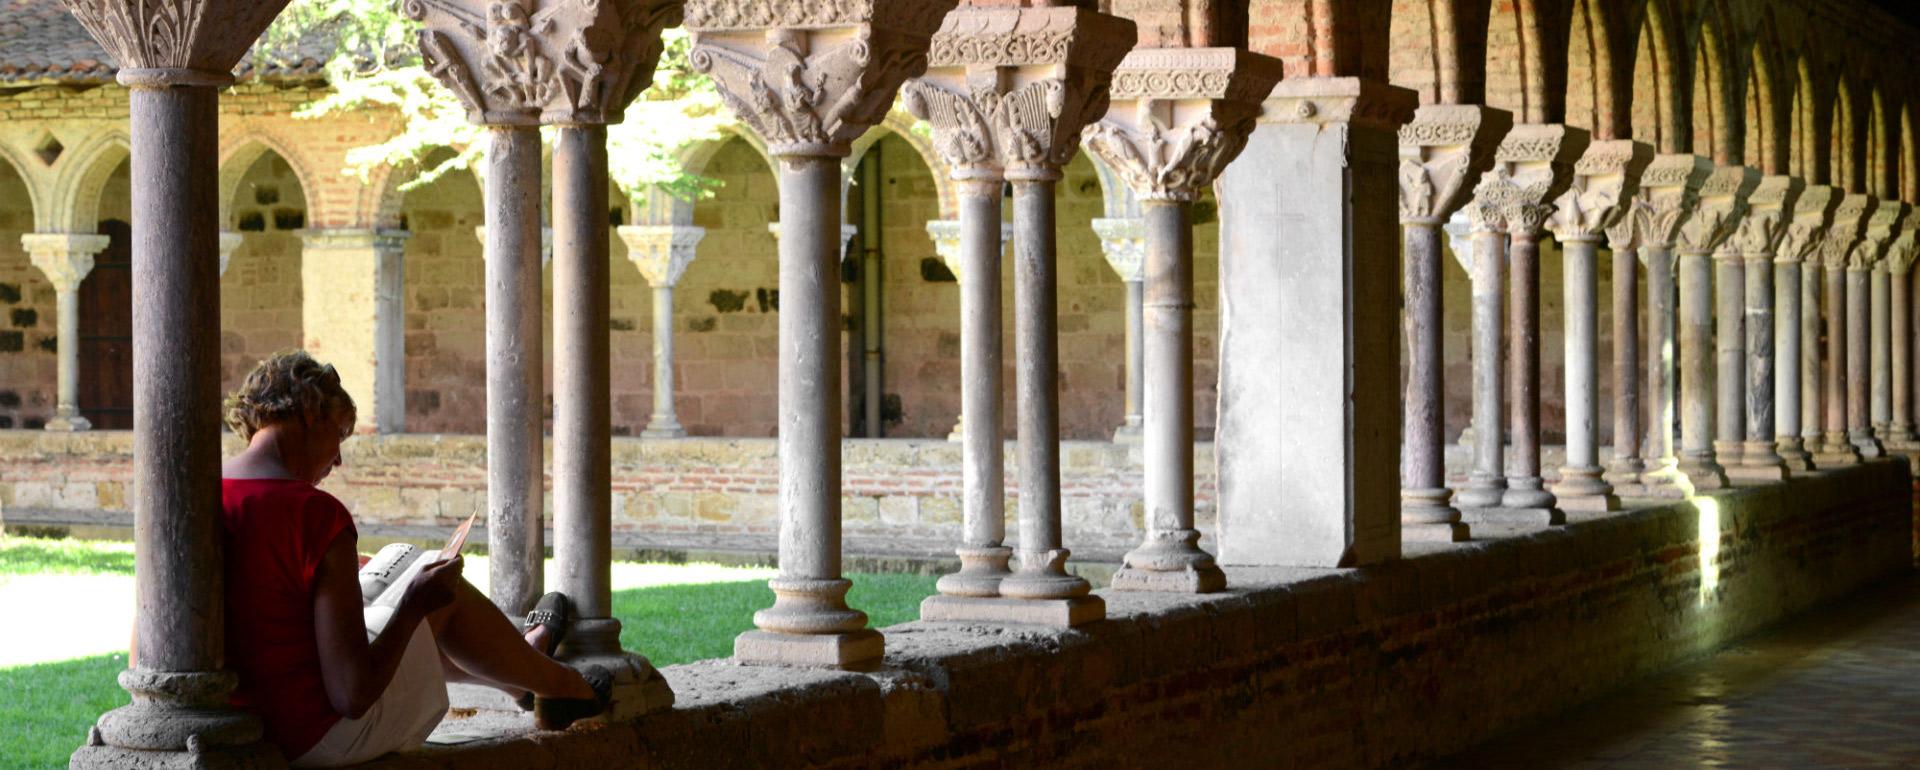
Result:
[[[1400,221],[1438,225],[1467,204],[1467,180],[1494,167],[1513,115],[1473,104],[1428,104],[1400,127]]]

